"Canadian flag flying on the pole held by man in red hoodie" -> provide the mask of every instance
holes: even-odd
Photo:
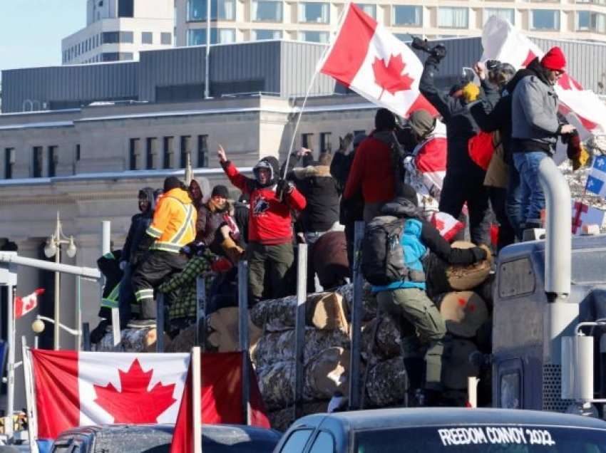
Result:
[[[437,115],[418,90],[423,72],[418,57],[351,2],[320,66],[322,73],[404,118],[418,108]]]

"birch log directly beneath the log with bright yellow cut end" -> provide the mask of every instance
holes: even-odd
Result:
[[[272,363],[294,360],[294,330],[284,332],[268,332],[257,342],[252,351],[252,363],[255,368],[263,368]],[[307,328],[303,350],[303,363],[320,353],[322,350],[339,346],[349,347],[349,337],[341,330],[319,330]]]

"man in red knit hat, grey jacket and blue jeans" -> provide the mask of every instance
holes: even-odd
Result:
[[[510,222],[518,231],[541,226],[545,194],[538,178],[539,164],[545,157],[553,157],[558,137],[575,130],[558,115],[554,86],[565,66],[564,53],[559,47],[553,47],[515,76],[520,82],[513,90],[511,150],[513,165],[520,174],[520,187],[513,188],[515,202],[508,207],[508,212]]]

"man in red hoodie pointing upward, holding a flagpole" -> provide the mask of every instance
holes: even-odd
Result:
[[[267,296],[286,296],[288,288],[284,276],[294,261],[290,212],[291,209],[302,211],[305,197],[294,185],[279,179],[279,162],[275,157],[263,157],[257,162],[252,169],[255,179],[251,179],[240,174],[227,160],[221,145],[217,155],[232,184],[250,196],[247,246],[250,305],[262,298],[266,266],[270,283]]]

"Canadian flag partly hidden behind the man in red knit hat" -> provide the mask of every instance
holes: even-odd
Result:
[[[510,63],[516,69],[525,67],[534,58],[541,58],[545,54],[509,21],[497,16],[492,16],[486,22],[482,32],[482,46],[483,60],[494,58]],[[577,126],[583,140],[587,137],[587,132],[606,132],[606,105],[593,91],[585,90],[568,73],[564,73],[558,80],[555,91],[560,98],[561,112],[567,115],[571,124]]]

